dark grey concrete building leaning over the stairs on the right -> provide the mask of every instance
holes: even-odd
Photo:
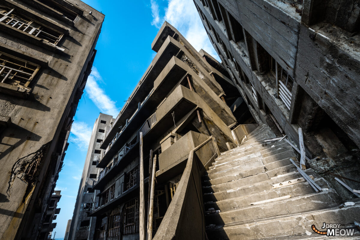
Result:
[[[301,127],[316,166],[359,181],[360,15],[353,1],[194,3],[257,123],[296,144]]]

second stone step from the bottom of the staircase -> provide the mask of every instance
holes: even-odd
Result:
[[[296,191],[293,191],[293,193],[296,193]],[[257,219],[286,216],[289,214],[306,213],[315,210],[338,207],[339,202],[340,197],[335,190],[331,189],[321,191],[320,193],[294,196],[294,198],[264,204],[250,205],[249,203],[247,206],[240,207],[245,205],[241,204],[239,205],[240,208],[237,209],[230,209],[225,212],[221,211],[220,213],[205,215],[205,221],[206,225],[227,225],[231,223],[256,221]],[[229,208],[230,206],[226,207]]]

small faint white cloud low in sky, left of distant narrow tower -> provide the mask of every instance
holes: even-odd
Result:
[[[87,150],[91,137],[91,127],[85,122],[74,121],[70,131],[69,141],[76,144],[80,150]]]

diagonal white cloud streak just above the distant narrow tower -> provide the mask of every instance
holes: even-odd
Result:
[[[116,102],[111,100],[98,84],[98,82],[102,81],[103,79],[98,69],[93,67],[90,76],[87,78],[85,91],[102,113],[117,116],[119,110],[116,107]]]

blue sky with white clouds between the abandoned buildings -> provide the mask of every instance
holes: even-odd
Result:
[[[155,52],[151,43],[166,20],[196,50],[216,56],[192,0],[111,1],[84,0],[105,14],[89,76],[69,137],[69,147],[55,190],[61,190],[61,208],[55,222],[57,239],[63,239],[71,219],[84,167],[87,147],[99,113],[117,116],[124,101],[143,76]]]

